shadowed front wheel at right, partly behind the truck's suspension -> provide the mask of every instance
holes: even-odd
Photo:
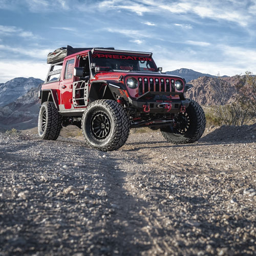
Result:
[[[179,113],[176,126],[162,127],[163,137],[174,144],[193,143],[198,141],[204,133],[205,115],[201,106],[193,99],[189,99],[185,113]]]

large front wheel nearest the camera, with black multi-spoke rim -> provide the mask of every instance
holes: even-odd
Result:
[[[130,132],[124,109],[110,99],[92,102],[83,113],[81,126],[87,145],[101,151],[117,150]]]

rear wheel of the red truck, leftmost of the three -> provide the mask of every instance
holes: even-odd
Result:
[[[38,116],[38,134],[45,140],[56,140],[61,129],[61,116],[54,102],[42,103]]]

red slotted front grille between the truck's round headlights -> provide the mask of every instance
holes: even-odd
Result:
[[[174,79],[161,77],[138,77],[139,95],[146,92],[175,92]]]

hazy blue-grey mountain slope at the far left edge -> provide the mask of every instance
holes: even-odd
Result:
[[[0,84],[0,106],[5,106],[25,95],[30,89],[37,88],[43,81],[29,77],[17,77],[6,83]]]

